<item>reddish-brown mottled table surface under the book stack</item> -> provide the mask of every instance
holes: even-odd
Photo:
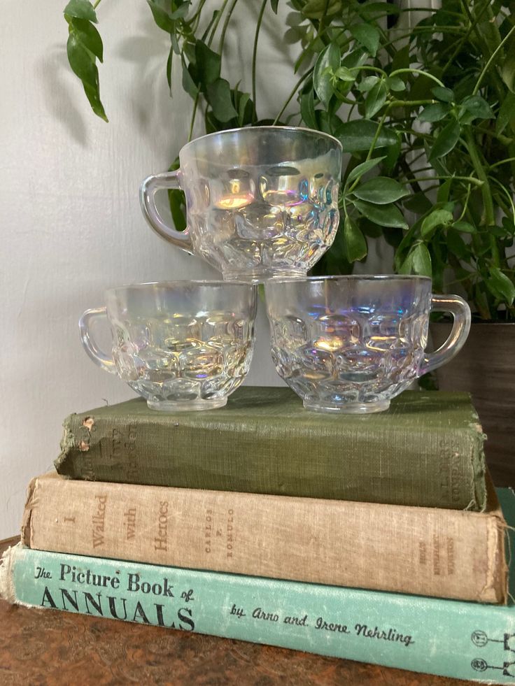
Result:
[[[0,553],[16,543],[0,541]],[[216,636],[190,634],[0,600],[2,686],[463,686],[388,669]]]

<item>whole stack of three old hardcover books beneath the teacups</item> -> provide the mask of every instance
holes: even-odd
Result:
[[[29,486],[9,601],[515,683],[505,533],[470,396],[309,413],[241,387],[173,415],[73,414]],[[504,512],[504,515],[503,515]],[[505,518],[506,517],[506,518]]]

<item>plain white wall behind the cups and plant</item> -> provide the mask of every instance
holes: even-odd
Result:
[[[167,169],[188,136],[191,101],[167,94],[167,36],[146,3],[99,6],[106,124],[66,64],[64,5],[2,3],[0,538],[19,530],[27,483],[52,466],[64,417],[134,395],[83,352],[83,310],[113,285],[219,277],[150,231],[139,208],[141,180]],[[281,83],[276,49],[265,42],[260,55]],[[262,311],[258,341],[248,382],[281,383]]]

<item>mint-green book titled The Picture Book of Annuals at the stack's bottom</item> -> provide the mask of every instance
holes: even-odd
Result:
[[[515,496],[500,492],[515,524]],[[513,570],[512,570],[513,571]],[[515,607],[10,548],[11,602],[515,684]]]

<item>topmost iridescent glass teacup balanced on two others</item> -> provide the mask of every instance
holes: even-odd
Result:
[[[141,208],[162,238],[199,255],[224,280],[306,276],[337,231],[341,143],[297,127],[218,131],[185,145],[178,171],[141,184]],[[181,188],[188,228],[161,217],[160,189]]]

